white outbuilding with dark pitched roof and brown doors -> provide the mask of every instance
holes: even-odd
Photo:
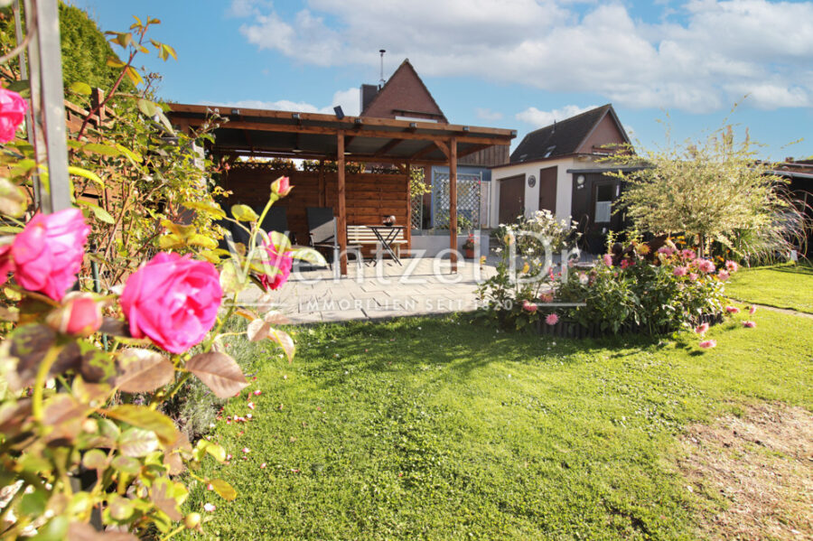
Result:
[[[611,104],[530,132],[509,163],[491,168],[491,224],[547,209],[575,219],[584,230],[620,229],[612,204],[621,195],[618,170],[599,160],[630,138]]]

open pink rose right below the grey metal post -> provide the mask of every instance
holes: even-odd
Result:
[[[78,209],[37,212],[14,238],[14,279],[59,301],[82,268],[90,228]]]

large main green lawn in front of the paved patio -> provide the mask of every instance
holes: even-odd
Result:
[[[756,400],[813,408],[813,319],[752,318],[706,351],[453,317],[300,329],[290,365],[236,343],[262,395],[230,401],[254,419],[217,425],[234,459],[203,473],[238,499],[197,485],[187,508],[216,504],[223,539],[691,539],[718,499],[677,471],[682,427]]]

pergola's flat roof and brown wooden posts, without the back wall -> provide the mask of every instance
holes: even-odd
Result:
[[[168,114],[181,129],[219,115],[213,156],[254,156],[331,160],[338,165],[338,241],[341,274],[347,274],[345,162],[391,163],[408,173],[411,165],[448,165],[449,234],[452,272],[457,272],[457,161],[493,145],[509,145],[514,130],[394,120],[340,117],[263,109],[171,104]],[[408,204],[408,201],[406,201]],[[408,227],[408,224],[407,224]]]

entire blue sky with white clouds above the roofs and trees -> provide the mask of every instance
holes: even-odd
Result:
[[[73,3],[102,30],[125,30],[133,14],[161,19],[150,35],[178,61],[136,65],[160,72],[173,101],[357,114],[386,49],[385,79],[409,58],[451,122],[516,129],[515,145],[612,103],[650,148],[664,145],[668,115],[674,140],[705,138],[727,118],[766,145],[762,158],[813,155],[813,2]]]

